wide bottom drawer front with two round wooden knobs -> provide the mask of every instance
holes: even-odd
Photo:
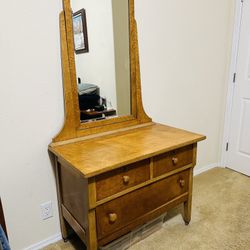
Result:
[[[100,205],[96,208],[98,239],[184,194],[188,186],[189,170],[186,170]]]

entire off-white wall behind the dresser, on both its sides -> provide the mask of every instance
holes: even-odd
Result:
[[[218,162],[233,0],[135,2],[146,111],[206,134],[199,166]],[[60,10],[60,0],[8,0],[0,9],[0,195],[13,250],[59,232],[47,145],[63,122]],[[42,221],[48,200],[55,215]]]

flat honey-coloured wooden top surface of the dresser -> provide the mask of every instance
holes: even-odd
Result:
[[[86,178],[204,140],[203,135],[153,124],[49,150]]]

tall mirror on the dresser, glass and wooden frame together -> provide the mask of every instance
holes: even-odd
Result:
[[[106,9],[109,15],[105,9],[102,9],[104,3],[106,7],[109,6],[109,9]],[[81,11],[82,9],[84,10]],[[80,24],[75,25],[82,25],[82,28],[75,27],[75,36],[73,18],[78,18],[79,11],[83,13],[81,14],[83,18]],[[74,14],[72,15],[72,13]],[[86,16],[86,34],[81,32],[85,25],[82,23],[85,20],[84,15]],[[99,29],[95,24],[97,22],[101,25],[106,22],[105,18],[109,18],[109,32],[107,24]],[[134,0],[63,0],[63,11],[60,13],[60,34],[65,121],[61,131],[53,138],[53,143],[60,144],[71,139],[82,140],[87,136],[114,133],[148,126],[152,123],[152,119],[146,114],[142,103]],[[105,43],[108,34],[113,37],[111,43]],[[113,44],[113,47],[105,46],[107,44]],[[95,46],[99,46],[99,49]],[[107,59],[108,48],[111,48],[112,57]],[[97,54],[97,52],[99,52],[97,57],[91,54]],[[106,55],[105,60],[103,60],[103,54]],[[83,58],[82,62],[80,58]],[[109,74],[107,69],[112,69]],[[107,88],[101,85],[106,76],[112,76],[113,79],[113,81],[109,81]],[[92,116],[84,118],[83,122],[80,122],[78,81],[90,84],[88,91],[93,87],[93,92],[100,93],[99,96],[104,99],[101,105],[105,103],[106,99],[106,109],[99,111],[101,117],[93,118]],[[82,87],[84,92],[84,86]],[[112,93],[115,96],[113,97],[114,102]],[[107,110],[110,107],[114,109],[114,113],[110,116],[103,114],[105,111],[110,111]],[[85,111],[92,112],[91,109]],[[96,114],[93,115],[100,115],[98,111],[95,112]],[[89,115],[89,113],[87,114]]]

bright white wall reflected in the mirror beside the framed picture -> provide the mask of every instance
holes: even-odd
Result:
[[[111,0],[72,0],[73,12],[86,10],[89,52],[75,55],[77,76],[100,87],[116,108],[116,75]]]

